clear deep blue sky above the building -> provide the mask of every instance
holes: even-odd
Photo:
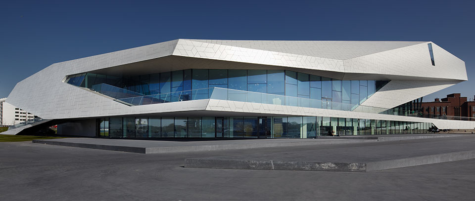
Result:
[[[474,10],[474,0],[3,0],[0,97],[52,63],[185,38],[433,41],[465,61],[469,81],[425,101],[473,98]]]

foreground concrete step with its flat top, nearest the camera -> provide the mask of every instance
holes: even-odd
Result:
[[[261,149],[245,155],[186,159],[185,167],[370,172],[475,159],[474,144],[474,135],[464,135],[282,150]]]

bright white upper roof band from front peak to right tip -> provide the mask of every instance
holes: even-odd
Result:
[[[204,40],[179,40],[174,51],[174,55],[206,58],[215,60],[225,60],[233,62],[255,63],[273,66],[283,66],[292,68],[305,68],[312,70],[334,71],[342,73],[361,73],[361,74],[380,74],[380,75],[396,75],[406,76],[405,80],[422,78],[438,78],[451,80],[467,80],[465,71],[465,63],[449,52],[439,49],[436,45],[434,52],[438,52],[438,58],[441,60],[436,66],[432,66],[428,51],[428,42],[401,42],[399,46],[392,43],[376,43],[374,41],[360,41],[362,46],[370,46],[369,44],[381,46],[381,52],[364,51],[360,54],[363,56],[350,59],[331,59],[317,56],[277,52],[259,49],[279,49],[267,48],[260,45],[262,41],[256,43],[249,42],[248,45],[240,46],[225,45],[227,42],[208,43]],[[354,43],[355,41],[349,41]],[[229,42],[233,44],[232,42]],[[312,43],[309,41],[308,43]],[[285,43],[286,44],[286,43]],[[288,44],[289,46],[294,43]],[[432,43],[433,44],[433,43]],[[328,45],[328,44],[324,44]],[[407,45],[407,46],[404,46]],[[344,49],[344,46],[338,45],[338,48],[332,51],[340,50],[342,53],[351,54],[355,49]],[[292,46],[292,48],[295,48]],[[394,48],[394,49],[391,49]],[[281,47],[280,49],[285,49]],[[286,51],[294,52],[294,51]],[[368,53],[368,54],[365,54]],[[337,55],[337,53],[334,53]],[[359,55],[356,54],[355,55]],[[453,71],[451,71],[453,69]],[[447,76],[445,76],[447,74]]]

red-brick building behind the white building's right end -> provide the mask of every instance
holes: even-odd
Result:
[[[421,109],[426,118],[439,116],[475,118],[475,101],[467,101],[467,97],[460,97],[460,93],[448,94],[442,99],[435,98],[433,102],[423,102]]]

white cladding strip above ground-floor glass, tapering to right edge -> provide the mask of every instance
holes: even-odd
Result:
[[[405,117],[396,115],[383,115],[374,113],[350,112],[339,110],[328,110],[319,108],[304,108],[285,105],[271,105],[261,103],[244,103],[238,101],[214,100],[210,99],[207,111],[241,113],[242,116],[248,114],[265,114],[269,116],[318,116],[318,117],[338,117],[352,119],[371,119],[389,121],[413,121],[434,123],[439,129],[474,129],[475,121],[453,121],[437,120],[428,118]],[[239,114],[235,114],[238,116]]]

